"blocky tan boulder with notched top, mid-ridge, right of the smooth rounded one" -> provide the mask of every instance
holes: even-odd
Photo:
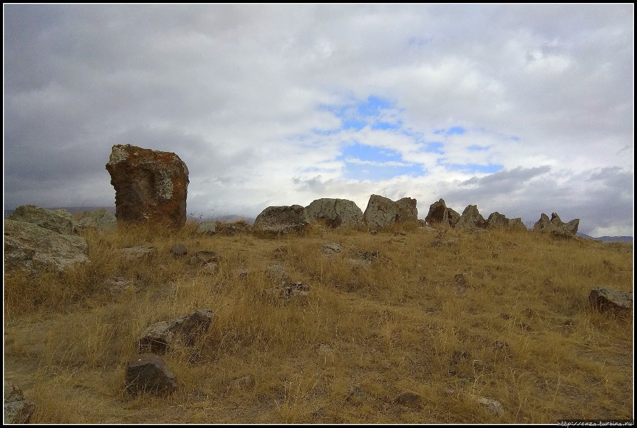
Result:
[[[404,221],[418,221],[416,200],[402,198],[394,202],[384,196],[371,195],[362,217],[365,225],[373,229],[382,229]]]

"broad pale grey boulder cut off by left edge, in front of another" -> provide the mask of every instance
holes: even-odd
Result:
[[[4,269],[52,268],[61,272],[89,260],[89,246],[79,236],[62,235],[31,223],[4,220]]]

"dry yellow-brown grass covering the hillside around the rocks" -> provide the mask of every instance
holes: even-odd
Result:
[[[633,290],[632,245],[490,231],[434,247],[436,233],[413,225],[401,228],[406,236],[314,225],[283,239],[198,237],[195,227],[87,232],[87,265],[5,276],[4,378],[36,402],[32,422],[634,417],[632,318],[596,313],[587,302],[594,286]],[[331,242],[345,250],[327,258],[321,246]],[[218,272],[173,258],[175,243],[217,251]],[[131,263],[117,252],[138,244],[157,254]],[[381,256],[352,268],[347,259],[360,251]],[[271,286],[263,270],[275,263],[311,284],[307,301],[262,297]],[[247,279],[238,275],[245,268]],[[456,274],[466,275],[466,290]],[[104,282],[113,277],[136,290],[111,296]],[[166,284],[175,294],[157,298]],[[165,358],[178,392],[129,396],[125,365],[141,330],[204,307],[215,318],[197,358],[183,349]],[[419,394],[420,407],[395,404],[403,392]],[[503,414],[468,394],[496,399]]]

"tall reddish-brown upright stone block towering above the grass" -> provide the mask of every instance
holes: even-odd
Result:
[[[175,153],[117,144],[106,170],[115,188],[118,220],[175,227],[186,222],[188,167]]]

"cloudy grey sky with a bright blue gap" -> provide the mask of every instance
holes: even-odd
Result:
[[[113,206],[113,144],[187,212],[372,193],[633,235],[634,8],[4,6],[4,206]]]

